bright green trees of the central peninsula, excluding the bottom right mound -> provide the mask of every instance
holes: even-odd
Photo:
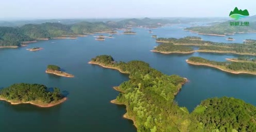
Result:
[[[102,55],[92,61],[106,62],[107,66],[130,74],[130,80],[119,86],[125,93],[119,94],[116,99],[127,105],[128,114],[135,118],[139,132],[176,132],[186,128],[179,127],[184,126],[182,122],[188,112],[173,101],[181,83],[185,82],[184,78],[167,76],[138,60],[111,64],[113,58]]]

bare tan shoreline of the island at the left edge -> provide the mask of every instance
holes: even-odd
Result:
[[[7,100],[7,99],[2,98],[2,97],[0,97],[0,100],[9,102],[9,103],[12,104],[12,105],[17,105],[17,104],[32,104],[32,105],[35,105],[35,106],[38,106],[38,107],[41,107],[41,108],[48,108],[48,107],[56,106],[56,105],[58,105],[58,104],[61,104],[61,103],[65,102],[65,101],[67,100],[67,97],[64,97],[64,98],[62,98],[61,100],[58,100],[58,102],[51,102],[51,103],[49,103],[49,104],[39,104],[39,103],[33,102],[33,101],[30,101],[30,102],[22,102],[22,101],[15,102],[14,100]]]

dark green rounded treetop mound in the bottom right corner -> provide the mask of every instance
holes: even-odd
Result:
[[[256,107],[234,98],[210,98],[195,108],[191,119],[202,123],[205,132],[255,132]]]

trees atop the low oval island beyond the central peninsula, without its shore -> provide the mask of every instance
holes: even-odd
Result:
[[[155,51],[161,51],[161,52],[191,52],[194,49],[188,46],[183,45],[174,45],[172,43],[162,43],[159,44],[156,48],[154,48]]]

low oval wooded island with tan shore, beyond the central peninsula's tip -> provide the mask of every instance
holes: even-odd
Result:
[[[194,53],[195,50],[188,46],[174,45],[173,43],[162,43],[159,44],[152,52],[160,52],[163,54],[172,54],[172,53],[181,53],[181,54],[190,54]]]

